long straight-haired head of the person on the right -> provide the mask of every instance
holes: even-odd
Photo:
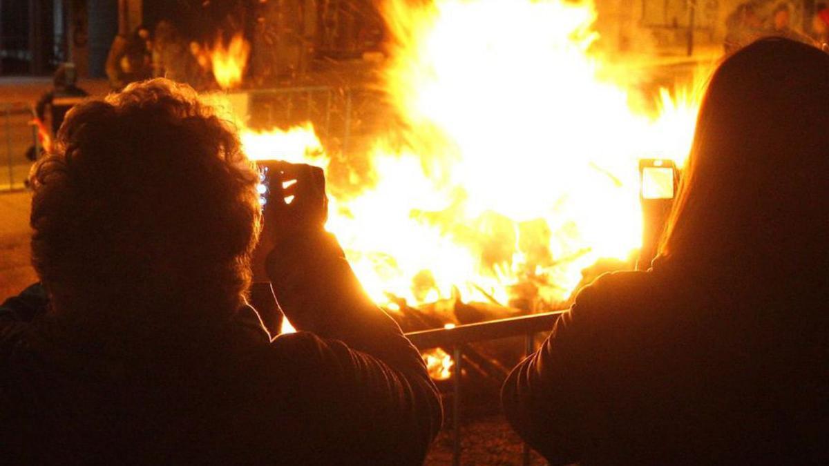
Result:
[[[829,56],[768,38],[715,71],[662,260],[783,272],[829,264]],[[754,268],[754,269],[752,269]]]

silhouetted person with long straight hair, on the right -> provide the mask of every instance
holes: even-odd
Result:
[[[710,81],[661,255],[582,289],[508,377],[551,464],[827,464],[829,56],[766,39]]]

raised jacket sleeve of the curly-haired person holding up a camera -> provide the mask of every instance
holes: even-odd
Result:
[[[278,245],[267,270],[299,331],[274,343],[303,348],[337,384],[320,396],[336,392],[337,410],[351,425],[382,435],[364,448],[385,444],[422,463],[441,425],[437,389],[418,350],[362,289],[334,236],[319,232]]]

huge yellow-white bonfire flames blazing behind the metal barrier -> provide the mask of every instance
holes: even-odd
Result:
[[[662,90],[656,115],[633,109],[618,84],[631,70],[590,53],[589,2],[389,0],[382,13],[402,124],[365,154],[371,186],[330,187],[327,224],[378,304],[507,304],[531,289],[532,310],[555,308],[582,269],[638,249],[638,159],[684,162],[693,83]],[[254,159],[329,160],[310,124],[242,141]],[[450,375],[445,352],[427,361]]]

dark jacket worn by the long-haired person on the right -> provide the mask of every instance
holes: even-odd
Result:
[[[600,277],[508,377],[507,419],[551,464],[827,464],[827,304],[750,282]]]

